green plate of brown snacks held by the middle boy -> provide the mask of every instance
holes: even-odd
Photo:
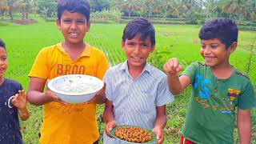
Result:
[[[115,126],[110,134],[121,141],[130,143],[157,143],[156,134],[139,126]]]

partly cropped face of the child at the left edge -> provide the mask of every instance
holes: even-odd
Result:
[[[0,46],[0,78],[3,78],[6,74],[8,67],[6,50]]]

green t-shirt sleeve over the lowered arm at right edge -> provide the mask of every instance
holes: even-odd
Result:
[[[238,108],[242,110],[249,110],[256,106],[256,95],[254,87],[251,82],[246,83],[245,90],[238,97]]]

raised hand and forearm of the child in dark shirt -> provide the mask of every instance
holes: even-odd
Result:
[[[26,94],[24,90],[18,90],[18,94],[15,94],[12,99],[12,104],[18,109],[18,116],[25,121],[27,118],[30,118],[30,112],[26,108]]]

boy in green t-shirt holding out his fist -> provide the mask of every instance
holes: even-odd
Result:
[[[238,26],[226,18],[206,22],[199,32],[205,62],[182,70],[177,58],[164,65],[172,94],[193,86],[181,143],[233,144],[235,107],[241,144],[250,144],[250,109],[256,106],[254,88],[245,74],[230,65],[238,42]]]

